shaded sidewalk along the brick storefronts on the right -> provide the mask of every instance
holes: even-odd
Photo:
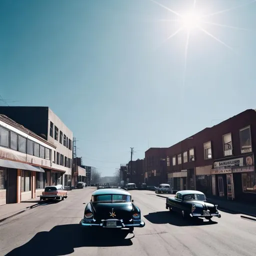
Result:
[[[172,196],[172,194],[168,194],[168,195],[157,194],[156,196],[166,198],[166,197]],[[252,204],[242,203],[237,201],[218,199],[213,196],[211,196],[211,198],[207,198],[207,201],[213,204],[217,204],[218,209],[231,214],[244,214],[244,215],[256,217],[256,203],[252,205]]]

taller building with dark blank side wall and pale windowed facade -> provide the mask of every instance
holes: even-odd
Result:
[[[70,185],[73,134],[60,118],[49,107],[43,106],[0,106],[0,113],[55,146],[52,150],[51,178],[56,179],[55,183]],[[53,169],[56,171],[53,172]]]

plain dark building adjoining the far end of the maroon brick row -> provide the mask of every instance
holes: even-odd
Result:
[[[145,151],[144,182],[158,186],[166,182],[166,170],[169,163],[165,147],[150,147]]]

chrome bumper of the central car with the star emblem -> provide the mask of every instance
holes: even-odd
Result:
[[[116,225],[115,226],[107,226],[106,221],[108,219],[101,219],[100,223],[94,223],[95,220],[87,220],[82,218],[80,221],[81,226],[99,226],[99,227],[104,227],[104,228],[129,228],[129,227],[144,227],[145,222],[143,220],[139,220],[133,223],[126,223],[124,224],[122,219],[109,219],[109,220],[116,220]]]

